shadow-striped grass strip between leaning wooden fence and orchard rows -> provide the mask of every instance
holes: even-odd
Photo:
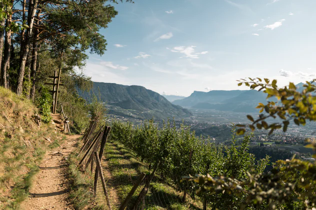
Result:
[[[148,173],[147,165],[137,160],[133,152],[126,149],[122,144],[115,141],[108,141],[106,144],[104,156],[106,163],[103,166],[105,179],[110,198],[112,199],[112,208],[117,209],[124,200],[127,193],[137,180],[141,172]],[[139,186],[134,193],[131,203],[136,199],[142,189],[143,184]],[[115,196],[116,194],[116,196]],[[155,175],[150,182],[149,191],[145,196],[145,209],[201,209],[202,203],[199,200],[192,200],[188,197],[185,203],[182,203],[182,192],[178,192],[170,184],[161,181],[159,175]]]

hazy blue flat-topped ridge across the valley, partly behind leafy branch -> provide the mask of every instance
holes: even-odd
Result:
[[[296,84],[301,91],[300,82]],[[275,98],[269,98],[275,100]],[[216,109],[221,111],[257,112],[255,107],[259,102],[266,101],[266,93],[257,90],[210,90],[209,92],[194,91],[190,96],[174,100],[172,103],[196,109]]]

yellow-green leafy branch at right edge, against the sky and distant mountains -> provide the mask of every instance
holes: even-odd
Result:
[[[267,93],[267,99],[277,99],[277,102],[267,101],[266,104],[259,103],[256,107],[260,109],[257,119],[247,115],[247,118],[252,122],[248,125],[251,130],[254,130],[255,127],[258,129],[270,129],[269,134],[271,134],[275,129],[283,128],[285,132],[290,120],[293,120],[297,125],[305,125],[306,120],[316,120],[316,85],[314,84],[316,79],[313,79],[311,82],[306,81],[306,84],[303,84],[300,91],[297,90],[292,82],[280,88],[276,85],[276,79],[270,81],[264,78],[263,80],[261,78],[249,78],[249,81],[245,79],[238,80],[240,81],[238,86],[244,84],[251,89],[263,90],[264,93]],[[282,123],[268,124],[265,121],[267,118],[276,117],[281,119]],[[237,130],[237,134],[243,134],[245,125],[238,124],[237,126],[242,127]]]

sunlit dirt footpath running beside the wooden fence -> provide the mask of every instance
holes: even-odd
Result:
[[[68,188],[65,179],[66,157],[73,151],[80,135],[67,135],[57,148],[47,152],[35,175],[29,197],[21,209],[73,209],[66,201]]]

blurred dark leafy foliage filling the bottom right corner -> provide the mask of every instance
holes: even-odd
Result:
[[[201,187],[196,193],[232,194],[242,198],[239,209],[313,209],[316,203],[316,165],[292,158],[279,160],[269,172],[249,173],[245,179],[198,175],[184,177]],[[284,208],[285,207],[285,208]]]

